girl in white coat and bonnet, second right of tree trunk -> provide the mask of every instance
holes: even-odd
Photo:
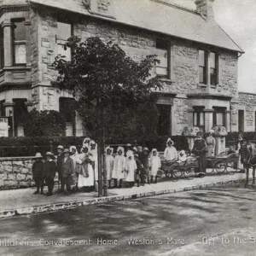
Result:
[[[114,181],[114,188],[117,188],[117,180],[119,179],[119,188],[122,187],[122,181],[125,178],[125,156],[124,148],[119,147],[117,149],[117,155],[113,161],[112,178]]]

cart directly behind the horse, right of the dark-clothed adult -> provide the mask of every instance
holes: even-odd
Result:
[[[211,169],[207,169],[207,173],[212,173],[216,170],[218,173],[228,172],[229,174],[235,174],[238,167],[239,154],[226,154],[220,153],[216,156],[207,157],[207,166]]]

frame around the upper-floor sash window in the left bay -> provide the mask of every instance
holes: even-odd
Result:
[[[26,38],[26,26],[24,25],[24,22],[26,21],[25,18],[18,18],[18,19],[12,19],[11,23],[13,25],[12,28],[12,48],[13,48],[13,65],[15,67],[17,66],[26,66],[26,61],[22,62],[22,63],[17,63],[16,62],[16,53],[15,53],[15,49],[16,49],[16,45],[25,45],[25,49],[26,49],[26,44],[27,44],[27,38]],[[25,33],[25,38],[26,40],[15,40],[15,23],[20,22],[23,23],[24,26],[24,33]],[[26,54],[25,54],[25,58],[26,58]]]

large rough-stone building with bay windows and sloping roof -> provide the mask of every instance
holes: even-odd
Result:
[[[184,126],[193,125],[202,131],[213,125],[238,131],[242,117],[243,129],[253,129],[256,109],[251,102],[256,96],[237,90],[243,51],[215,22],[213,2],[195,0],[196,10],[190,10],[170,0],[2,0],[2,116],[54,109],[66,113],[68,135],[82,136],[73,96],[53,87],[57,74],[51,64],[57,54],[71,58],[63,49],[70,36],[97,36],[119,44],[137,61],[158,55],[153,75],[164,85],[154,91],[159,95],[160,135],[179,135]],[[15,135],[21,134],[15,124]]]

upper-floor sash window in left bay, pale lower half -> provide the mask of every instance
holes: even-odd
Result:
[[[12,20],[15,65],[26,65],[26,27],[24,21],[25,19]]]

